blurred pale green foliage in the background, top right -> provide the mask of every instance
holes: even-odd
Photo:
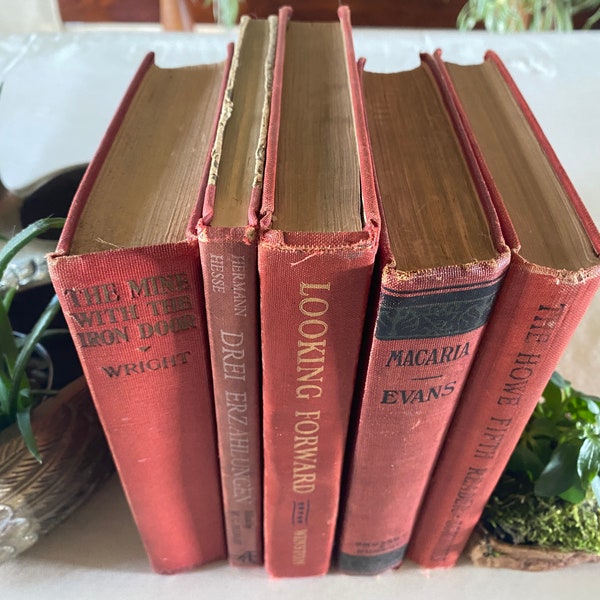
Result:
[[[573,17],[595,11],[586,20],[589,29],[600,19],[599,0],[469,0],[456,24],[460,30],[482,24],[488,31],[571,31]]]

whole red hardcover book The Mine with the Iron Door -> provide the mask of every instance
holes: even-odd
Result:
[[[154,570],[225,557],[196,224],[230,57],[148,55],[49,270]]]

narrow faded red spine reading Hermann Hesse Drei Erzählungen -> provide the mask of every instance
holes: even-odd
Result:
[[[262,437],[255,230],[200,230],[227,553],[262,564]],[[244,241],[244,239],[246,241]]]

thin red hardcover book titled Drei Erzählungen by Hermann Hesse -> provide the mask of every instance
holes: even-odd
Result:
[[[258,211],[277,17],[242,17],[198,229],[227,553],[262,564]]]

